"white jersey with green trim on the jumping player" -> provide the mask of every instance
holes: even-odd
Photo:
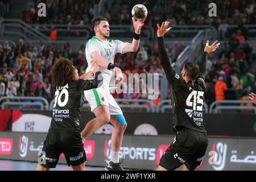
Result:
[[[110,63],[114,64],[115,53],[123,53],[123,48],[127,43],[123,43],[120,40],[100,40],[93,36],[92,39],[88,40],[85,47],[85,56],[88,63],[88,67],[86,68],[86,73],[92,69],[92,64],[90,62],[93,60],[90,54],[94,51],[98,51],[101,56],[105,57]],[[102,77],[103,77],[103,86],[109,87],[110,78],[112,75],[112,71],[102,68],[101,69]],[[89,78],[93,79],[93,77]]]

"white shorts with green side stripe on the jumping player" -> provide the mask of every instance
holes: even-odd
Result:
[[[115,102],[114,97],[110,94],[109,89],[105,89],[103,86],[96,89],[90,89],[84,91],[84,96],[90,104],[90,110],[93,111],[100,105],[109,106],[110,115],[123,114],[121,108]]]

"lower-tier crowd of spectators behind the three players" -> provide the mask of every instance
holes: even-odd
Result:
[[[205,45],[205,43],[203,43]],[[166,45],[167,53],[174,62],[184,44],[174,42],[173,45]],[[221,44],[221,49],[210,54],[207,62],[207,75],[205,82],[207,91],[205,101],[211,104],[215,100],[240,99],[250,92],[256,92],[255,75],[249,73],[251,64],[252,48],[240,31],[233,34],[228,42]],[[0,45],[0,97],[2,96],[42,96],[51,101],[54,96],[54,89],[51,86],[51,68],[57,57],[67,57],[73,65],[84,73],[87,63],[84,57],[85,46],[80,47],[78,55],[72,53],[71,46],[67,43],[64,47],[48,47],[40,43],[35,46],[33,43],[24,44],[20,39],[16,47],[10,47],[8,42]],[[129,73],[160,73],[164,75],[160,66],[157,42],[145,41],[138,52],[115,55],[117,65],[126,76]],[[134,82],[129,88],[134,88]],[[125,88],[126,89],[126,88]],[[159,88],[155,88],[159,92]],[[233,98],[228,98],[227,90],[233,90]],[[113,93],[115,98],[144,98],[147,93]],[[128,90],[129,92],[129,90]],[[171,98],[171,89],[168,89],[167,97]],[[157,105],[160,98],[155,101]]]

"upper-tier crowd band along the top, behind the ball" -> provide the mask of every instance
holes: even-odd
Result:
[[[1,2],[1,1],[0,1]],[[36,16],[37,5],[45,2],[47,17]],[[209,24],[217,30],[226,31],[228,24],[256,24],[256,4],[254,0],[186,1],[186,0],[122,0],[105,1],[101,7],[99,0],[28,0],[23,11],[23,20],[35,24],[89,25],[98,13],[110,20],[110,24],[131,24],[131,9],[142,3],[147,7],[145,26],[155,28],[156,23],[170,20],[171,25]],[[216,3],[217,16],[210,17],[209,4]]]

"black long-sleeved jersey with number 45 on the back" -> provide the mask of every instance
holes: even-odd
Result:
[[[208,53],[204,52],[203,61],[200,65],[199,76],[192,84],[185,82],[179,74],[171,67],[170,60],[166,53],[163,37],[158,38],[160,62],[166,73],[166,78],[172,86],[172,107],[174,109],[174,131],[181,127],[200,132],[207,132],[203,122],[203,104]]]

